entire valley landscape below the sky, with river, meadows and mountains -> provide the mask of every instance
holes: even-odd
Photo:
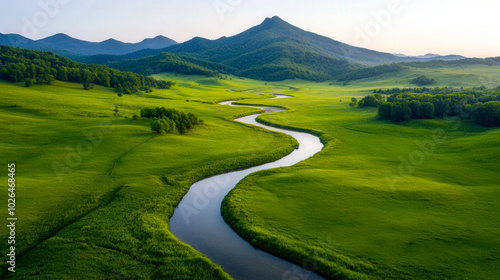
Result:
[[[500,279],[499,57],[279,17],[184,43],[21,37],[0,34],[2,279]],[[436,110],[413,117],[417,97]]]

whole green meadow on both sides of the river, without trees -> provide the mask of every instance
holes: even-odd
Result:
[[[286,106],[261,119],[315,131],[326,144],[296,166],[250,176],[225,200],[226,220],[252,244],[328,279],[499,279],[500,130],[458,119],[393,124],[348,105],[420,74],[439,86],[500,85],[500,68],[487,66],[345,86],[166,73],[154,77],[175,81],[172,89],[123,97],[58,81],[0,82],[0,155],[16,163],[19,218],[18,271],[3,278],[230,279],[168,221],[197,180],[294,149],[288,136],[232,121],[259,110],[217,105],[247,99]],[[132,116],[157,106],[205,124],[155,136]],[[6,242],[0,249],[5,256]]]

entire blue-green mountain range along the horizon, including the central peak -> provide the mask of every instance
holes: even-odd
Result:
[[[277,16],[232,37],[217,40],[195,37],[182,44],[162,36],[126,44],[113,39],[91,43],[64,34],[38,41],[15,34],[0,34],[1,44],[50,50],[80,62],[108,64],[143,74],[166,70],[220,72],[261,80],[319,81],[369,66],[465,58],[458,55],[394,55],[354,47],[304,31]],[[381,69],[394,71],[395,68]]]

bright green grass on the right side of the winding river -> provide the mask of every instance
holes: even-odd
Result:
[[[445,81],[462,70],[439,71],[426,75]],[[440,86],[483,84],[488,72],[470,71]],[[262,120],[321,131],[328,143],[294,167],[243,180],[224,202],[225,219],[252,244],[331,279],[500,279],[500,130],[392,124],[347,105],[374,88],[409,86],[416,74],[344,87],[296,81],[295,98],[259,102],[293,109]],[[442,141],[422,157],[415,141],[434,133]]]

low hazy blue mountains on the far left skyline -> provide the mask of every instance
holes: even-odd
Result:
[[[57,54],[70,57],[125,55],[144,49],[162,49],[175,44],[177,44],[177,42],[164,36],[145,39],[140,43],[123,43],[115,39],[108,39],[103,42],[95,43],[78,40],[62,33],[36,41],[16,34],[0,34],[0,45],[53,51]]]

